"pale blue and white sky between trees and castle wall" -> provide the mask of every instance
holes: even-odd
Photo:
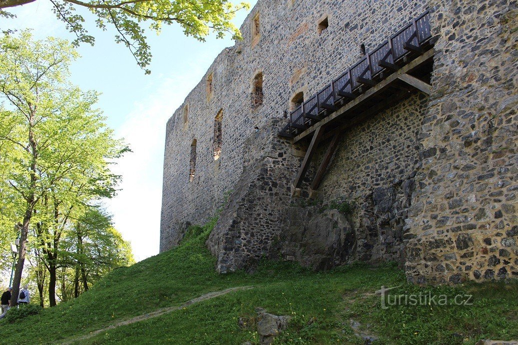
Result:
[[[255,5],[256,0],[249,1]],[[48,0],[37,0],[11,13],[16,19],[0,21],[0,30],[33,28],[36,38],[55,36],[73,39],[65,24],[56,19]],[[145,76],[131,53],[113,41],[114,31],[103,32],[94,25],[95,17],[82,11],[95,47],[82,44],[79,58],[71,66],[71,81],[83,90],[101,92],[98,107],[108,125],[133,150],[113,169],[121,174],[122,189],[106,202],[116,228],[130,241],[135,259],[140,261],[159,252],[160,208],[165,124],[185,96],[202,79],[214,58],[234,42],[207,38],[198,42],[185,37],[179,25],[166,26],[160,36],[147,33],[153,54],[151,75]],[[240,26],[247,12],[235,19]]]

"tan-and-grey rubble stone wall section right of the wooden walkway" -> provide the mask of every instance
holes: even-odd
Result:
[[[434,0],[422,167],[409,209],[414,282],[518,277],[516,1]]]

